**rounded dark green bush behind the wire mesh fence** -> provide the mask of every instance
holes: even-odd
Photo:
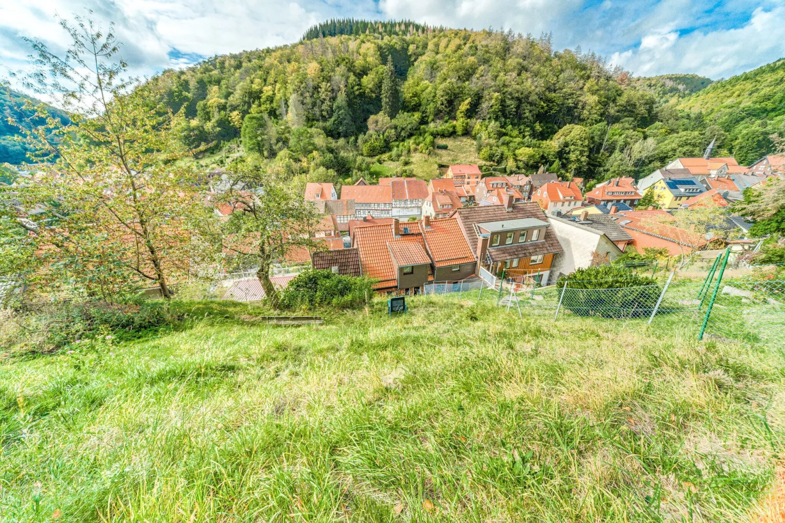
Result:
[[[567,286],[562,307],[578,316],[637,318],[648,316],[662,291],[657,281],[630,269],[601,265],[578,269],[557,282]]]

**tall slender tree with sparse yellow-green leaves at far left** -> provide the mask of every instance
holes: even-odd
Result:
[[[36,70],[25,82],[67,109],[71,123],[42,106],[37,115],[46,125],[18,123],[33,159],[57,158],[18,195],[43,253],[38,276],[51,276],[42,278],[49,287],[65,281],[104,298],[132,282],[170,298],[201,244],[189,224],[209,211],[194,172],[178,162],[194,152],[177,140],[181,115],[155,104],[138,79],[123,77],[111,26],[105,35],[89,18],[60,26],[71,37],[67,52],[28,40]]]

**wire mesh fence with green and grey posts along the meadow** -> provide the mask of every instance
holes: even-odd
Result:
[[[480,280],[475,285],[481,289],[464,287],[462,300],[496,305],[521,318],[623,321],[690,337],[785,346],[785,280],[750,275],[722,279],[715,271],[698,278],[670,272],[655,281],[625,287],[613,280],[608,288],[586,289],[569,283],[525,287],[509,280],[491,287]]]

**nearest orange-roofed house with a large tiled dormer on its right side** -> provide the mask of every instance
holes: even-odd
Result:
[[[433,278],[419,227],[393,219],[391,224],[357,227],[353,235],[352,247],[358,249],[363,274],[378,280],[374,290],[421,294]]]

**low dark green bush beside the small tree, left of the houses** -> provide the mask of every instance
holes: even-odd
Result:
[[[331,306],[352,309],[365,305],[374,295],[373,280],[342,276],[327,270],[301,272],[281,293],[283,309]]]

